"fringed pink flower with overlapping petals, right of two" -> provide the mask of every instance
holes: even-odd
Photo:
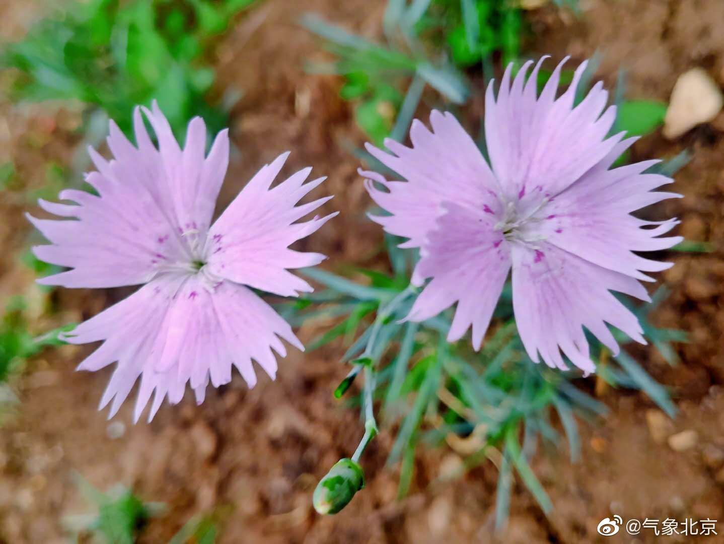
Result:
[[[538,96],[541,62],[526,83],[527,63],[512,85],[508,66],[497,98],[489,85],[490,164],[452,114],[432,112],[433,132],[413,122],[413,148],[386,141],[391,155],[368,146],[406,182],[361,175],[392,214],[372,219],[409,238],[404,247],[421,248],[413,283],[431,280],[408,319],[423,321],[457,303],[447,338],[458,340],[472,326],[479,349],[512,269],[515,322],[531,359],[540,354],[549,367],[566,369],[562,351],[588,373],[595,366],[584,327],[613,353],[618,343],[606,324],[646,343],[636,317],[610,291],[649,301],[638,280],[652,279],[641,271],[670,264],[633,252],[674,246],[680,237],[656,237],[678,221],[649,222],[631,212],[680,195],[652,192],[672,181],[644,173],[656,161],[611,169],[635,138],[607,138],[615,107],[606,108],[602,83],[574,106],[585,62],[557,99],[561,64]]]

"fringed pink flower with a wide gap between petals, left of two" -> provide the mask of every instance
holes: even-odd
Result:
[[[209,380],[231,380],[232,364],[248,386],[256,384],[255,360],[274,379],[285,356],[280,338],[303,350],[291,327],[252,289],[298,296],[311,286],[287,269],[310,267],[321,254],[288,248],[336,214],[296,222],[331,196],[296,206],[324,178],[303,182],[300,170],[270,189],[288,154],[261,168],[221,217],[211,224],[229,162],[229,137],[216,137],[208,156],[206,126],[196,117],[180,148],[159,107],[143,109],[159,148],[151,142],[140,109],[134,114],[132,146],[111,122],[106,161],[90,149],[98,168],[86,180],[98,191],[66,190],[63,200],[40,201],[46,211],[72,220],[29,217],[48,246],[38,259],[71,270],[40,283],[69,288],[110,288],[143,284],[125,300],[78,325],[65,338],[83,344],[104,340],[78,369],[96,371],[118,361],[101,399],[112,417],[140,377],[135,419],[155,391],[150,421],[164,397],[181,400],[190,382],[198,403]]]

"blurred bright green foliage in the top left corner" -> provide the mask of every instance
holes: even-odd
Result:
[[[254,0],[90,0],[42,20],[7,45],[0,67],[19,71],[16,100],[94,104],[130,131],[132,108],[157,99],[177,134],[194,115],[216,132],[226,125],[209,106],[214,37]]]

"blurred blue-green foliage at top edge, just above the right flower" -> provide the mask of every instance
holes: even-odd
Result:
[[[555,4],[577,7],[576,0]],[[476,70],[488,79],[494,59],[520,65],[529,32],[525,10],[504,0],[388,0],[379,43],[313,15],[302,23],[337,57],[309,70],[344,77],[340,95],[355,102],[355,120],[378,145],[404,138],[426,85],[448,104],[466,104],[479,86]]]

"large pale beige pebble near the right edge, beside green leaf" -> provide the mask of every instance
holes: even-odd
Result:
[[[710,122],[724,107],[724,96],[703,68],[692,68],[676,80],[664,120],[663,135],[675,140],[696,125]]]

